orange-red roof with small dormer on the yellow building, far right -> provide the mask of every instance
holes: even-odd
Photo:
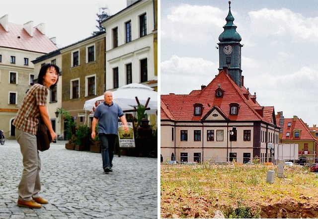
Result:
[[[291,126],[288,126],[288,123],[291,124]],[[294,138],[294,130],[299,129],[301,130],[300,137]],[[289,132],[289,137],[286,136],[286,133]],[[296,118],[294,121],[293,118],[284,118],[284,126],[283,126],[283,134],[282,134],[282,140],[315,140],[315,138],[310,134],[309,129],[307,128],[306,124],[303,122],[303,120]]]

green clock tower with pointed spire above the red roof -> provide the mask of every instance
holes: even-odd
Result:
[[[241,55],[242,39],[236,31],[237,26],[233,24],[234,17],[231,13],[231,1],[229,1],[229,14],[225,18],[227,24],[223,26],[224,31],[219,36],[219,71],[223,67],[228,67],[228,72],[232,79],[241,87]]]

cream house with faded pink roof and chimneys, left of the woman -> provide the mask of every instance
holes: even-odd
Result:
[[[8,139],[15,138],[13,119],[36,78],[31,61],[58,49],[44,30],[44,23],[33,27],[33,21],[20,25],[0,17],[0,130]]]

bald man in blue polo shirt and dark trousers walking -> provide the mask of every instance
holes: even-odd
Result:
[[[124,126],[124,131],[128,132],[126,117],[120,106],[113,102],[113,93],[106,91],[104,93],[105,102],[99,104],[94,113],[91,123],[91,138],[96,136],[95,128],[98,121],[98,136],[101,143],[101,156],[103,160],[103,169],[105,173],[112,172],[112,160],[116,138],[118,135],[118,117]]]

